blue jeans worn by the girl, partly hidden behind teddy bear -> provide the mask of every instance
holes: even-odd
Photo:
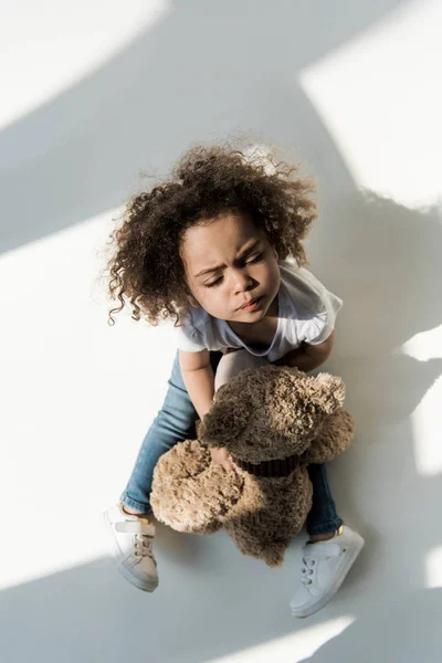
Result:
[[[221,358],[221,352],[210,352],[214,373]],[[177,442],[197,436],[194,424],[198,413],[182,380],[178,352],[168,385],[162,408],[143,441],[134,471],[120,495],[123,504],[145,514],[151,511],[149,496],[158,459]],[[307,533],[315,535],[334,532],[343,525],[343,520],[336,513],[325,464],[309,465],[308,474],[313,484],[313,505],[307,516]]]

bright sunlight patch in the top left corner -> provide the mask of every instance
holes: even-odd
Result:
[[[3,3],[1,81],[8,94],[0,128],[103,66],[169,11],[168,0]]]

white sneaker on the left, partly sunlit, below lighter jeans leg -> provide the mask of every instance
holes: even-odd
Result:
[[[138,589],[154,591],[158,587],[152,550],[155,525],[146,516],[126,514],[120,503],[105,511],[103,519],[113,541],[117,570]]]

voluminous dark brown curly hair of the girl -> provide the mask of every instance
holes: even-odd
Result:
[[[168,181],[131,198],[123,223],[110,234],[108,295],[131,305],[131,317],[151,325],[175,319],[189,308],[190,294],[180,248],[186,230],[223,212],[250,213],[280,260],[290,254],[306,263],[302,240],[316,218],[314,181],[297,165],[244,154],[229,144],[191,147]]]

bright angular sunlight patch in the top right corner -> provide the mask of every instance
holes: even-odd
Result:
[[[360,188],[440,203],[442,2],[409,2],[301,74]]]

